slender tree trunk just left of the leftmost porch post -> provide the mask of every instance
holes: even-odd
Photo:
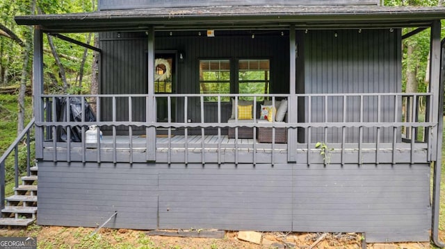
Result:
[[[31,2],[31,15],[35,12],[35,0]],[[26,95],[26,78],[28,76],[29,69],[29,53],[31,52],[31,46],[33,44],[33,27],[29,27],[28,39],[26,40],[25,49],[23,51],[23,67],[22,67],[22,78],[20,78],[20,89],[19,89],[19,114],[17,120],[17,135],[24,129],[25,123],[25,95]]]

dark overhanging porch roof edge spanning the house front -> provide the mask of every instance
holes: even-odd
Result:
[[[253,10],[252,10],[253,8]],[[99,12],[70,13],[62,15],[28,15],[15,17],[19,25],[40,25],[42,29],[54,31],[58,28],[70,28],[67,32],[76,32],[88,26],[90,31],[103,31],[104,28],[120,27],[122,29],[148,26],[193,26],[212,24],[261,24],[273,22],[310,23],[310,24],[391,24],[406,22],[430,22],[445,19],[445,8],[258,8],[269,12],[249,12],[216,8],[175,8],[149,10],[107,10]],[[206,11],[202,11],[206,10]],[[330,10],[330,11],[329,11]]]

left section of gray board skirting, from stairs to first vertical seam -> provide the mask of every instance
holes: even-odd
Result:
[[[149,164],[39,162],[40,225],[155,229],[158,175]]]

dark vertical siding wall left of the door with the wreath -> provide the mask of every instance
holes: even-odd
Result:
[[[140,33],[100,33],[102,48],[101,94],[146,94],[147,38]],[[101,98],[102,121],[112,121],[111,98]],[[128,98],[116,99],[117,121],[128,121]],[[133,121],[145,121],[145,98],[135,98]]]

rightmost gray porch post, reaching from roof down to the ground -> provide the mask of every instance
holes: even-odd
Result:
[[[444,78],[441,74],[440,21],[435,21],[431,26],[431,55],[430,55],[430,92],[432,92],[432,121],[437,126],[432,128],[433,135],[428,141],[432,150],[431,160],[434,161],[434,175],[432,179],[432,241],[439,246],[445,244],[439,240],[439,207],[440,207],[440,177],[442,171],[442,132],[443,132],[443,108],[444,108]],[[444,67],[444,65],[442,65]],[[443,70],[443,69],[442,69]]]

